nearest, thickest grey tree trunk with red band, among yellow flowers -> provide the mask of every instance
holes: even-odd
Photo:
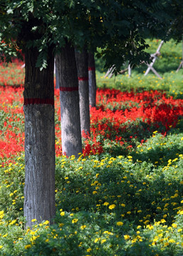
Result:
[[[24,216],[26,228],[36,219],[51,221],[55,215],[54,58],[48,67],[35,68],[36,48],[26,49],[24,86],[25,161]]]

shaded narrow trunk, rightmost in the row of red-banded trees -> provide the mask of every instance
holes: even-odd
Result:
[[[94,54],[89,53],[89,105],[96,107],[96,74],[95,74],[95,60]]]

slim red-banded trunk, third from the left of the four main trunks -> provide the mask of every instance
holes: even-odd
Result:
[[[88,75],[88,53],[84,49],[82,52],[75,50],[77,63],[77,75],[79,81],[79,110],[81,120],[81,130],[90,135],[89,116],[89,75]]]

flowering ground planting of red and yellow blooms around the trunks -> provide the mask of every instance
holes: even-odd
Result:
[[[33,220],[34,228],[24,230],[20,65],[6,67],[0,89],[0,254],[182,255],[181,76],[114,81],[98,73],[91,138],[79,159],[62,156],[55,90],[57,214],[53,225]]]

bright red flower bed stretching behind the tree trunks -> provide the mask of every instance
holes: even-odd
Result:
[[[0,87],[0,157],[13,158],[23,151],[23,88]],[[97,90],[97,107],[91,108],[91,137],[84,142],[84,155],[101,154],[106,139],[122,147],[133,147],[157,130],[165,134],[183,115],[183,100],[162,92]],[[55,90],[56,155],[62,154],[59,91]],[[110,144],[109,143],[109,144]]]

